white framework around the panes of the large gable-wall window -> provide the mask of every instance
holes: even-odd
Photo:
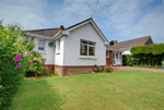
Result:
[[[82,44],[81,40],[87,41],[87,44]],[[89,45],[89,42],[94,42],[95,45],[94,45],[94,46],[93,46],[93,45]],[[82,54],[80,53],[81,57],[95,57],[95,48],[96,48],[96,42],[95,42],[95,41],[85,40],[85,39],[80,39],[80,48],[81,48],[81,45],[87,47],[87,54],[86,54],[86,56],[82,56]],[[94,47],[94,56],[89,56],[89,47]],[[80,52],[81,52],[81,50],[80,50]]]

